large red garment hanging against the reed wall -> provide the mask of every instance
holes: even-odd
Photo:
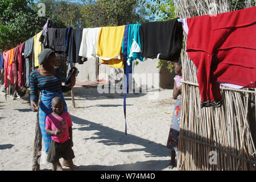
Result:
[[[201,107],[219,107],[219,82],[256,87],[256,7],[187,18],[187,54],[198,69]]]

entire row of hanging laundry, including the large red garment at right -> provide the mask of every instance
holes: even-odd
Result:
[[[21,69],[18,72],[26,75],[24,85],[29,87],[29,64],[33,62],[33,69],[39,66],[37,55],[42,51],[42,43],[43,47],[50,47],[55,52],[68,56],[69,64],[83,64],[87,59],[99,57],[102,64],[124,68],[125,74],[126,70],[131,73],[129,68],[133,66],[131,62],[134,63],[135,59],[178,60],[184,30],[187,34],[187,54],[198,69],[197,78],[204,107],[206,103],[221,100],[219,84],[239,89],[255,88],[256,34],[252,31],[256,28],[255,17],[254,6],[217,16],[202,15],[117,27],[52,28],[53,22],[47,20],[43,30],[33,37],[34,43],[32,38],[26,41],[26,74]],[[123,49],[126,46],[124,44],[127,44],[127,55]],[[10,84],[13,84],[11,73],[17,72],[18,67],[15,65],[19,64],[17,60],[20,53],[15,54],[14,48],[3,52],[5,79],[9,76]],[[22,61],[20,64],[23,64]],[[7,87],[6,82],[5,86]],[[22,86],[22,81],[19,86]]]

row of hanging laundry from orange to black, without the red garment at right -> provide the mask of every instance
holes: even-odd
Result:
[[[178,29],[173,26],[174,24],[179,25],[177,26]],[[160,28],[161,25],[166,26],[166,28]],[[167,46],[167,40],[172,41],[172,39],[176,39],[177,37],[176,35],[171,36],[168,34],[168,31],[173,28],[174,32],[179,31],[179,37],[182,38],[181,24],[177,22],[177,19],[166,22],[129,24],[129,29],[127,30],[127,34],[129,34],[127,39],[127,63],[124,63],[123,37],[125,26],[75,29],[72,27],[53,27],[54,23],[48,19],[41,32],[33,36],[33,38],[26,40],[25,43],[17,46],[21,47],[23,50],[22,55],[19,53],[18,56],[21,57],[21,61],[23,62],[21,65],[24,65],[24,70],[18,69],[19,75],[24,77],[24,81],[21,81],[19,86],[29,88],[30,67],[32,66],[33,70],[35,67],[40,67],[38,64],[38,55],[43,48],[51,48],[55,53],[67,56],[69,69],[71,68],[71,63],[83,64],[84,61],[93,57],[99,57],[102,64],[108,64],[114,68],[124,68],[125,64],[128,64],[129,67],[133,66],[131,63],[134,63],[135,59],[144,61],[145,58],[154,59],[161,56],[162,59],[172,59],[173,55],[170,55],[170,52],[173,47]],[[165,36],[158,36],[159,31],[162,31],[161,35]],[[151,34],[155,35],[155,39],[152,39]],[[142,44],[141,39],[143,41]],[[182,41],[178,41],[176,45],[178,51],[173,59],[178,59],[182,47]],[[166,42],[166,44],[164,44],[164,42]],[[151,49],[153,44],[158,44],[156,50]],[[10,78],[10,84],[13,84],[11,70],[15,69],[15,66],[17,66],[17,64],[13,64],[13,54],[17,47],[4,52],[5,59],[3,60],[9,62],[9,65],[5,67],[5,87],[7,87],[8,84],[7,76]],[[16,57],[14,57],[14,59],[16,59]]]

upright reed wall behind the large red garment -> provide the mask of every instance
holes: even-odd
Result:
[[[209,13],[210,3],[217,5],[217,13],[231,10],[227,0],[179,0],[174,3],[175,13],[179,18],[212,14]],[[247,1],[246,6],[250,7],[251,1]],[[187,56],[185,34],[184,38],[185,46],[181,54],[184,82],[177,168],[254,170],[255,89],[234,90],[222,87],[223,106],[201,109],[197,68]]]

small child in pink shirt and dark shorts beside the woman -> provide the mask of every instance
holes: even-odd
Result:
[[[70,114],[63,111],[63,101],[61,97],[54,97],[51,100],[53,113],[47,115],[45,121],[45,131],[51,135],[51,143],[47,162],[53,164],[53,171],[57,168],[62,170],[59,158],[67,160],[70,169],[74,170],[73,160],[75,158],[72,139],[72,121]]]

